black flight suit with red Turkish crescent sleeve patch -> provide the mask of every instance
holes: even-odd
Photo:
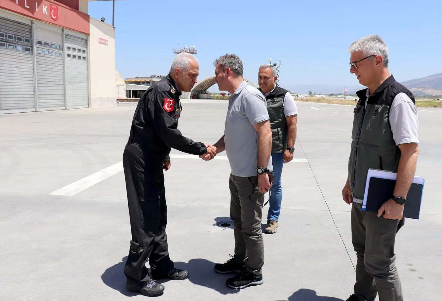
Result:
[[[174,80],[166,76],[146,91],[133,115],[129,141],[123,153],[129,205],[129,256],[124,267],[128,281],[149,282],[152,275],[166,278],[173,268],[169,258],[163,164],[171,148],[193,155],[207,152],[202,142],[184,137],[178,127],[181,104]]]

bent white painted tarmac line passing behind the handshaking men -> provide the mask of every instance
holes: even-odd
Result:
[[[171,159],[198,159],[201,160],[199,156],[196,155],[170,155]],[[216,160],[228,160],[227,156],[216,156]],[[298,162],[298,163],[307,163],[308,160],[304,158],[293,158],[292,162]],[[56,191],[51,192],[50,194],[53,195],[65,195],[71,197],[72,195],[75,195],[81,191],[84,191],[88,189],[89,187],[94,186],[95,184],[98,184],[105,179],[110,178],[113,175],[118,174],[118,172],[123,170],[123,162],[120,161],[114,165],[111,165],[107,168],[104,168],[100,171],[97,171],[91,175],[88,175],[87,177],[80,179],[74,183],[71,183],[65,187],[62,187],[60,189],[57,189]]]

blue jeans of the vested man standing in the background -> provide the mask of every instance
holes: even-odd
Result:
[[[270,188],[270,206],[267,213],[267,219],[271,221],[278,221],[282,202],[281,174],[282,165],[284,165],[282,152],[272,152],[272,164],[275,179],[273,180],[272,187]]]

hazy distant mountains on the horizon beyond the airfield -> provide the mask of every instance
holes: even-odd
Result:
[[[407,80],[400,82],[410,89],[416,96],[422,95],[442,95],[442,73],[430,76]],[[292,93],[308,94],[309,90],[316,94],[344,94],[342,86],[322,85],[322,84],[304,84],[304,85],[285,85],[283,88],[290,90]],[[355,94],[356,91],[365,87],[362,85],[347,87],[347,94]]]

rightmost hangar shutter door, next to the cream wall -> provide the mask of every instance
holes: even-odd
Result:
[[[89,107],[88,40],[65,35],[66,104],[68,109]]]

